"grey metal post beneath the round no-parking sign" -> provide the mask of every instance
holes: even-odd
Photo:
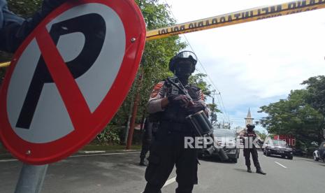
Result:
[[[33,166],[22,165],[15,193],[39,193],[41,192],[48,164]]]

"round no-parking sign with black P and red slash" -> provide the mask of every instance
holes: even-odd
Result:
[[[89,143],[129,92],[145,23],[129,0],[54,10],[22,43],[0,93],[0,136],[22,162],[48,164]]]

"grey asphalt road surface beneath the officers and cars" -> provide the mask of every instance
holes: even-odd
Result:
[[[194,187],[194,192],[324,193],[324,162],[298,157],[288,160],[262,154],[259,157],[266,176],[247,173],[242,155],[238,164],[201,160],[199,185]],[[134,152],[70,157],[49,166],[43,192],[140,193],[145,187],[145,168],[137,164],[138,153]],[[15,160],[0,160],[1,193],[14,191],[21,166]],[[176,186],[173,172],[163,192],[175,192]]]

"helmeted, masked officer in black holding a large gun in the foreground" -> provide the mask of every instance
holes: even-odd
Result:
[[[194,136],[185,117],[205,110],[204,97],[198,87],[189,85],[189,76],[194,72],[197,59],[193,52],[184,51],[175,55],[169,63],[190,98],[181,90],[171,89],[170,81],[158,83],[148,102],[149,113],[159,114],[159,129],[152,144],[149,165],[145,171],[145,193],[161,192],[161,187],[176,166],[176,192],[192,192],[197,184],[198,159],[194,148],[185,148],[185,137]]]

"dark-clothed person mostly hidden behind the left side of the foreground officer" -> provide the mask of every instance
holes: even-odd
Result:
[[[143,127],[142,146],[140,152],[140,166],[147,166],[145,163],[145,155],[150,150],[151,144],[154,141],[154,137],[157,134],[158,122],[154,121],[152,117],[145,118],[145,124]]]

